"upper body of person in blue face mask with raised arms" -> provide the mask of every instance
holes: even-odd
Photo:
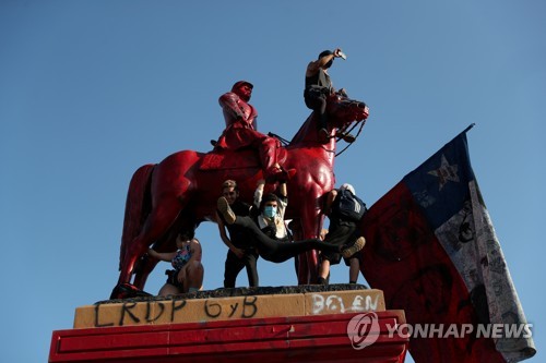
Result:
[[[288,230],[284,221],[284,211],[288,205],[286,182],[278,184],[277,193],[263,195],[264,181],[258,183],[254,192],[254,206],[259,208],[257,216],[258,227],[270,238],[282,242],[288,242]]]

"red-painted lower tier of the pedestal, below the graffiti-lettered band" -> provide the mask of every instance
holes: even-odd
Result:
[[[353,349],[357,314],[54,331],[49,362],[404,362],[408,338],[389,337],[402,311],[377,312],[378,340]]]

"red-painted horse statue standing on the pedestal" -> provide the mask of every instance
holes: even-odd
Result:
[[[293,219],[296,239],[316,238],[323,221],[323,198],[334,187],[333,172],[336,133],[365,122],[368,107],[333,95],[328,102],[330,140],[319,142],[314,114],[307,119],[292,142],[280,148],[278,161],[285,169],[295,169],[288,180],[290,203],[286,218]],[[131,282],[140,289],[157,261],[145,256],[154,244],[157,251],[174,251],[175,235],[183,229],[194,230],[203,220],[214,221],[216,199],[222,182],[234,179],[240,198],[252,201],[256,185],[263,179],[257,152],[217,150],[207,154],[193,150],[175,153],[157,165],[138,169],[129,185],[123,233],[121,238],[119,283]],[[274,185],[268,185],[273,189]],[[314,282],[317,254],[299,258],[299,283]]]

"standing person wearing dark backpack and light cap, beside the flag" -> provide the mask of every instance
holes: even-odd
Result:
[[[324,237],[324,242],[336,245],[346,245],[356,241],[351,249],[340,253],[321,253],[319,265],[319,285],[328,285],[330,267],[340,263],[343,256],[345,265],[349,266],[349,283],[356,283],[360,269],[360,254],[358,253],[366,243],[360,235],[357,222],[366,213],[366,204],[356,196],[355,189],[351,184],[343,184],[339,190],[332,190],[327,195],[324,208],[329,219],[330,228]]]

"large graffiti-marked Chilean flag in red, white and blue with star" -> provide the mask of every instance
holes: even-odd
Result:
[[[361,221],[364,275],[405,311],[415,362],[519,362],[535,354],[468,157],[466,131]]]

